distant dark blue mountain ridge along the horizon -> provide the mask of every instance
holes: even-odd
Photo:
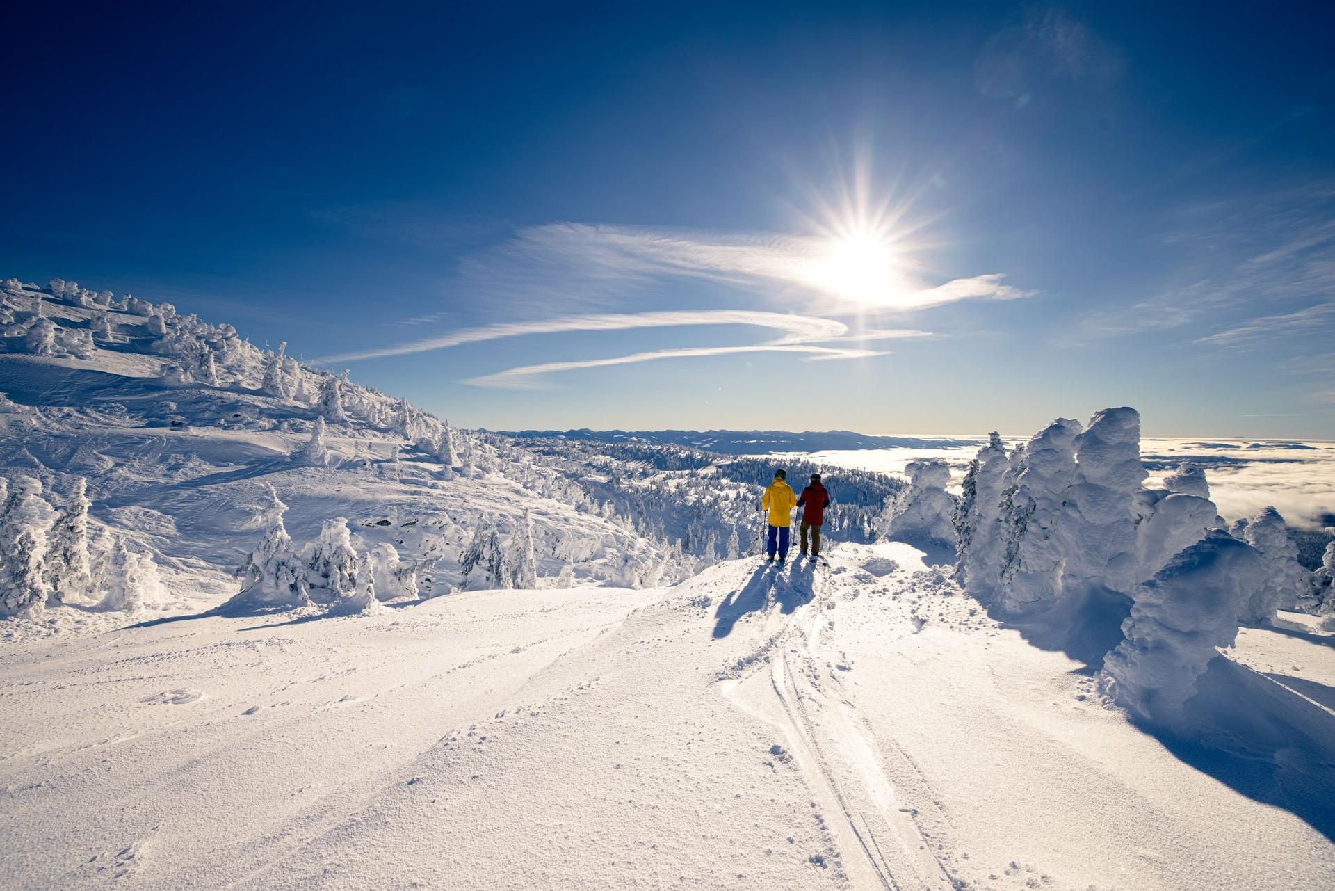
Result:
[[[680,445],[721,454],[770,454],[774,452],[828,452],[834,449],[949,449],[977,445],[980,439],[951,437],[896,437],[825,430],[498,430],[521,439],[579,439],[591,442],[649,442]]]

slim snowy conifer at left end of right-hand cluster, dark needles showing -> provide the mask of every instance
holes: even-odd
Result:
[[[955,513],[959,537],[957,577],[969,590],[993,589],[1000,581],[1004,536],[1001,490],[1011,469],[1001,437],[992,433],[979,449],[964,477],[964,492]]]

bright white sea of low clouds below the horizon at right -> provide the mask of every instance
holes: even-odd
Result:
[[[956,439],[957,441],[957,439]],[[940,449],[854,449],[804,454],[832,468],[856,468],[904,473],[904,465],[920,458],[939,458],[963,478],[984,439],[977,445]],[[1024,439],[1007,439],[1007,448]],[[1335,442],[1328,439],[1200,439],[1152,438],[1140,442],[1141,458],[1151,470],[1145,485],[1157,485],[1183,461],[1206,469],[1210,494],[1227,520],[1250,517],[1272,505],[1296,526],[1332,525],[1335,520]],[[789,453],[792,454],[792,453]],[[784,456],[776,456],[781,458]]]

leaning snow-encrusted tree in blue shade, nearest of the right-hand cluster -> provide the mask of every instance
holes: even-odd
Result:
[[[1251,545],[1222,529],[1137,585],[1127,636],[1104,661],[1104,688],[1140,717],[1176,723],[1196,679],[1238,636],[1238,613],[1264,581]]]

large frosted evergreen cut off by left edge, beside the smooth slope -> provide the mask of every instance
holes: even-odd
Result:
[[[0,518],[0,616],[32,616],[47,602],[47,536],[55,510],[41,482],[17,477],[8,486]]]

